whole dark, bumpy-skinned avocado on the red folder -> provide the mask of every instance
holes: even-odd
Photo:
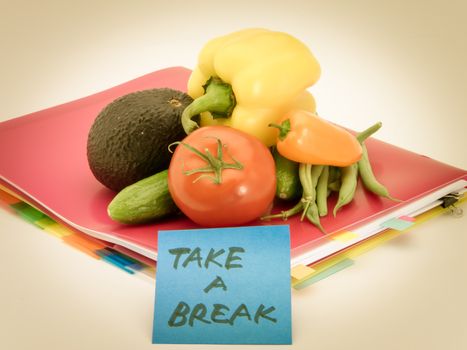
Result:
[[[169,89],[142,90],[122,96],[97,116],[88,134],[89,167],[114,191],[167,169],[168,146],[186,134],[181,115],[192,102],[187,94]]]

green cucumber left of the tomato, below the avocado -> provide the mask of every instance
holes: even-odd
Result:
[[[176,213],[167,174],[163,170],[118,192],[107,207],[109,216],[124,224],[141,224]]]

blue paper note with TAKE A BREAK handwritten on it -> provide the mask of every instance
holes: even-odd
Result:
[[[289,226],[159,231],[153,343],[291,344]]]

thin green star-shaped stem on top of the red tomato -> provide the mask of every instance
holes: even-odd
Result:
[[[191,152],[195,153],[198,157],[203,159],[206,162],[206,166],[200,167],[200,168],[195,168],[191,170],[185,170],[183,173],[187,176],[193,175],[193,174],[199,174],[201,173],[202,175],[198,176],[195,180],[193,180],[193,183],[198,182],[202,178],[209,178],[211,181],[219,185],[222,183],[222,171],[224,169],[235,169],[235,170],[242,170],[243,169],[243,164],[240,163],[238,160],[236,160],[234,157],[230,156],[233,160],[233,163],[227,163],[224,161],[223,156],[223,148],[227,147],[225,144],[222,143],[222,141],[218,138],[215,138],[217,141],[217,154],[214,156],[208,148],[204,149],[204,153],[201,152],[200,150],[194,148],[193,146],[177,141],[172,144],[170,144],[169,148],[172,145],[182,145],[186,147],[188,150]],[[205,173],[214,173],[213,175],[207,175]]]

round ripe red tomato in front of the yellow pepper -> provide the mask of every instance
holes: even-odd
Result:
[[[276,191],[275,165],[259,140],[227,126],[206,126],[182,142],[170,162],[169,191],[192,221],[210,227],[235,226],[267,211]],[[219,170],[216,181],[214,171],[203,170],[210,165],[206,154],[215,166],[222,160],[233,168]]]

